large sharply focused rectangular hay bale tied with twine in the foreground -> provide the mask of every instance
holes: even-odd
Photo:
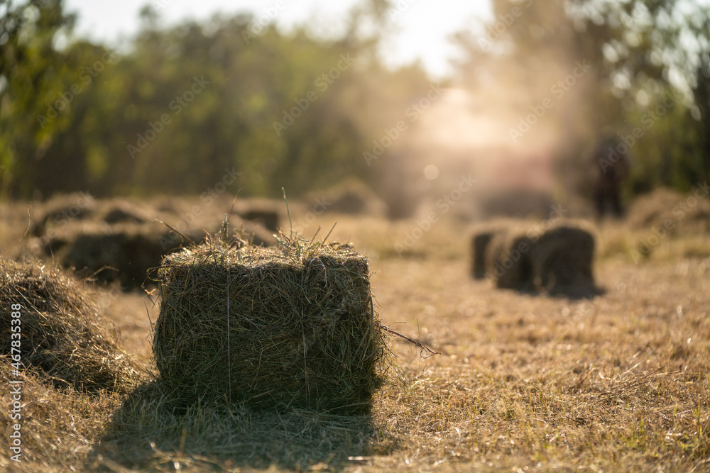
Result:
[[[176,252],[158,270],[153,354],[168,392],[186,404],[369,411],[386,345],[366,257],[339,245],[220,247]]]

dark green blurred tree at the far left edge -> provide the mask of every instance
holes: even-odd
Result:
[[[61,0],[0,2],[0,194],[4,197],[33,190],[31,173],[70,121],[70,100],[61,94],[69,85],[67,76],[76,57],[58,52],[55,44],[70,35],[74,21],[62,11]]]

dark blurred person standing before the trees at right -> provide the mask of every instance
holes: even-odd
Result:
[[[628,145],[611,135],[601,138],[591,153],[594,165],[594,206],[601,218],[610,208],[617,217],[623,215],[621,187],[628,177]]]

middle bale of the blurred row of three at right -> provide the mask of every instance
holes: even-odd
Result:
[[[533,289],[530,247],[530,237],[517,228],[508,228],[493,235],[486,247],[486,277],[492,279],[499,289]]]

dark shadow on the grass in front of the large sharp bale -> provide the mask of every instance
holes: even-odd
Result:
[[[306,409],[256,410],[244,404],[185,408],[159,380],[139,386],[114,412],[87,469],[268,468],[313,465],[340,471],[371,450],[371,416]]]

